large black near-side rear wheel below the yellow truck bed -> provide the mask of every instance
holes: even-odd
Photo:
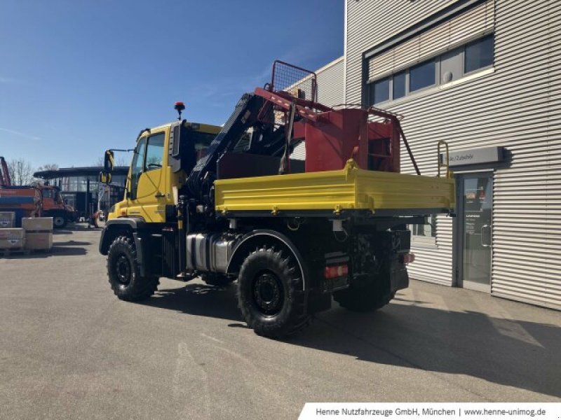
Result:
[[[267,288],[272,290],[270,300],[262,296]],[[311,320],[302,288],[302,273],[288,250],[257,247],[241,265],[238,307],[258,335],[285,337],[302,330]]]

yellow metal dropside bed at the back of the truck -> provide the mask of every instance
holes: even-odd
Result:
[[[454,211],[454,179],[359,169],[215,181],[215,208],[230,211],[370,210],[374,214]]]

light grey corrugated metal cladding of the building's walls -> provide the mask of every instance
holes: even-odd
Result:
[[[364,52],[450,3],[347,0],[347,101],[360,102]],[[494,0],[494,13],[494,71],[389,109],[405,116],[423,174],[436,172],[440,139],[452,151],[506,146],[511,161],[494,170],[492,294],[561,309],[561,2]],[[438,216],[437,245],[414,248],[410,273],[451,284],[450,218]]]

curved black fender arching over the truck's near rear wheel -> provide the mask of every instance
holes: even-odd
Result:
[[[298,248],[290,240],[290,238],[280,232],[276,232],[275,230],[253,230],[252,232],[242,237],[242,239],[236,244],[234,251],[232,251],[232,255],[228,262],[226,272],[228,274],[238,273],[241,265],[243,264],[243,261],[245,260],[245,257],[251,252],[253,248],[255,248],[255,246],[263,245],[264,239],[266,239],[268,244],[275,242],[277,244],[282,244],[282,246],[288,248],[288,251],[290,251],[290,253],[294,255],[294,258],[298,263],[300,273],[302,273],[302,290],[307,290],[306,278],[308,276],[308,270],[304,262],[304,258],[302,258],[302,253],[298,251]]]

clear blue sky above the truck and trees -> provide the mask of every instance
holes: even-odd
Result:
[[[140,129],[222,124],[274,59],[343,54],[342,0],[0,1],[0,155],[95,165]]]

